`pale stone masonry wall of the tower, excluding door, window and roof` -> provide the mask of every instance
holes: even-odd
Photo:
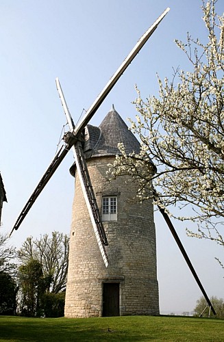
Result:
[[[99,209],[103,195],[117,194],[117,221],[103,222],[109,245],[106,268],[93,232],[78,176],[66,287],[66,317],[102,315],[103,282],[120,283],[120,315],[158,315],[153,205],[135,202],[136,185],[126,176],[109,183],[105,179],[113,157],[88,160],[88,170]]]

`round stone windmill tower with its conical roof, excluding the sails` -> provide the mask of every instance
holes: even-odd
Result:
[[[105,267],[75,164],[75,198],[66,287],[66,317],[158,315],[158,282],[153,205],[134,202],[136,185],[120,176],[106,179],[108,163],[119,154],[139,151],[140,144],[114,106],[99,127],[88,125],[83,144],[92,187],[108,237]]]

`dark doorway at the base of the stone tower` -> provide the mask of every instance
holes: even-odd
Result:
[[[103,282],[103,316],[119,316],[119,282]]]

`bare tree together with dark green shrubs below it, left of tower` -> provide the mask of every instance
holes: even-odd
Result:
[[[27,237],[17,252],[21,266],[21,314],[60,317],[69,263],[69,237],[59,232],[34,240]]]

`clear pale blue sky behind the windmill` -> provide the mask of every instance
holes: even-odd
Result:
[[[88,109],[136,41],[167,8],[149,42],[127,68],[91,123],[98,125],[112,103],[126,120],[134,118],[137,84],[145,98],[158,93],[156,73],[171,77],[172,68],[188,70],[174,39],[186,32],[206,41],[201,0],[1,0],[0,3],[0,170],[8,204],[3,232],[9,232],[27,198],[55,155],[66,123],[55,77],[59,77],[76,122]],[[217,5],[223,12],[223,0]],[[69,153],[42,192],[11,243],[27,236],[61,231],[69,234],[74,182]],[[201,296],[173,237],[155,213],[158,238],[160,311],[192,311]],[[222,249],[177,231],[208,295],[224,297],[223,272],[214,257]],[[188,228],[191,228],[188,226]]]

